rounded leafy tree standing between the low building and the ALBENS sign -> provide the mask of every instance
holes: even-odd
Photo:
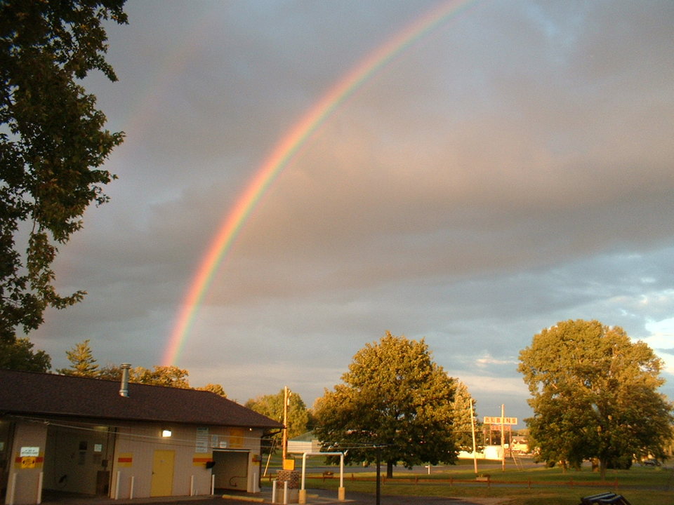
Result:
[[[342,381],[314,408],[325,449],[348,449],[348,462],[370,463],[380,454],[389,477],[397,462],[456,461],[456,380],[432,361],[423,339],[386,332],[355,354]]]

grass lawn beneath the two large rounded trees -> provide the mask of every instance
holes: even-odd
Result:
[[[393,478],[383,479],[381,492],[386,494],[444,497],[501,497],[503,504],[578,505],[580,498],[601,492],[616,492],[626,497],[632,505],[673,505],[674,468],[635,465],[629,470],[607,470],[606,480],[589,467],[580,471],[546,468],[543,464],[525,464],[524,469],[509,462],[502,471],[499,462],[479,462],[478,473],[489,475],[489,482],[477,482],[473,462],[459,462],[449,469],[427,471],[394,470]],[[339,485],[339,469],[333,478],[322,478],[322,473],[312,471],[314,466],[323,466],[322,461],[308,461],[306,487],[309,489],[335,489]],[[482,466],[482,468],[481,468]],[[350,471],[350,469],[352,471]],[[369,471],[371,469],[371,471]],[[345,489],[348,498],[352,492],[375,492],[376,471],[353,471],[345,467]],[[301,460],[298,462],[301,471]],[[360,469],[359,469],[360,470]],[[271,472],[275,475],[275,470]],[[382,466],[382,475],[385,466]]]

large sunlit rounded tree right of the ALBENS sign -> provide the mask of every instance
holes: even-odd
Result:
[[[598,321],[561,321],[520,351],[531,436],[550,461],[597,458],[629,467],[633,454],[663,457],[673,405],[659,393],[662,362],[644,342]]]

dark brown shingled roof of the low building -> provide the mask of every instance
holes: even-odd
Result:
[[[0,414],[176,422],[209,426],[282,425],[211,391],[0,370]]]

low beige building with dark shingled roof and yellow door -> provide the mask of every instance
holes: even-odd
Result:
[[[111,498],[257,492],[273,421],[209,391],[0,370],[0,492]],[[122,390],[127,396],[122,396]]]

